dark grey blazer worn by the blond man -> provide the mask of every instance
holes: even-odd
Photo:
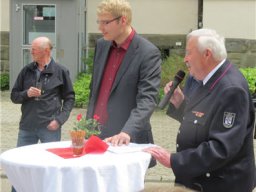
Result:
[[[110,41],[99,39],[95,49],[87,117],[94,114]],[[113,83],[107,110],[108,121],[101,138],[128,133],[131,142],[153,143],[150,126],[160,86],[161,54],[157,47],[135,34]]]

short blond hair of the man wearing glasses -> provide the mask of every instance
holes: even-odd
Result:
[[[125,16],[127,23],[132,22],[131,5],[126,0],[103,0],[97,8],[97,14],[110,13],[113,17]]]

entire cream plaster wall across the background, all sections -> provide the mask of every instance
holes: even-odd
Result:
[[[9,31],[9,1],[0,1],[1,31]],[[98,33],[96,7],[87,1],[87,32]],[[198,0],[130,0],[133,27],[142,34],[186,34],[197,27]],[[256,39],[256,0],[204,0],[204,27],[227,38]]]

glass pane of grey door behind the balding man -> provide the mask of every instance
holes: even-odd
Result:
[[[52,56],[56,59],[56,5],[23,4],[23,66],[32,61],[31,42],[40,36],[48,37],[53,43]]]

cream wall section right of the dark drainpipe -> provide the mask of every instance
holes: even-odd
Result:
[[[256,39],[256,0],[204,0],[203,23],[226,38]]]

